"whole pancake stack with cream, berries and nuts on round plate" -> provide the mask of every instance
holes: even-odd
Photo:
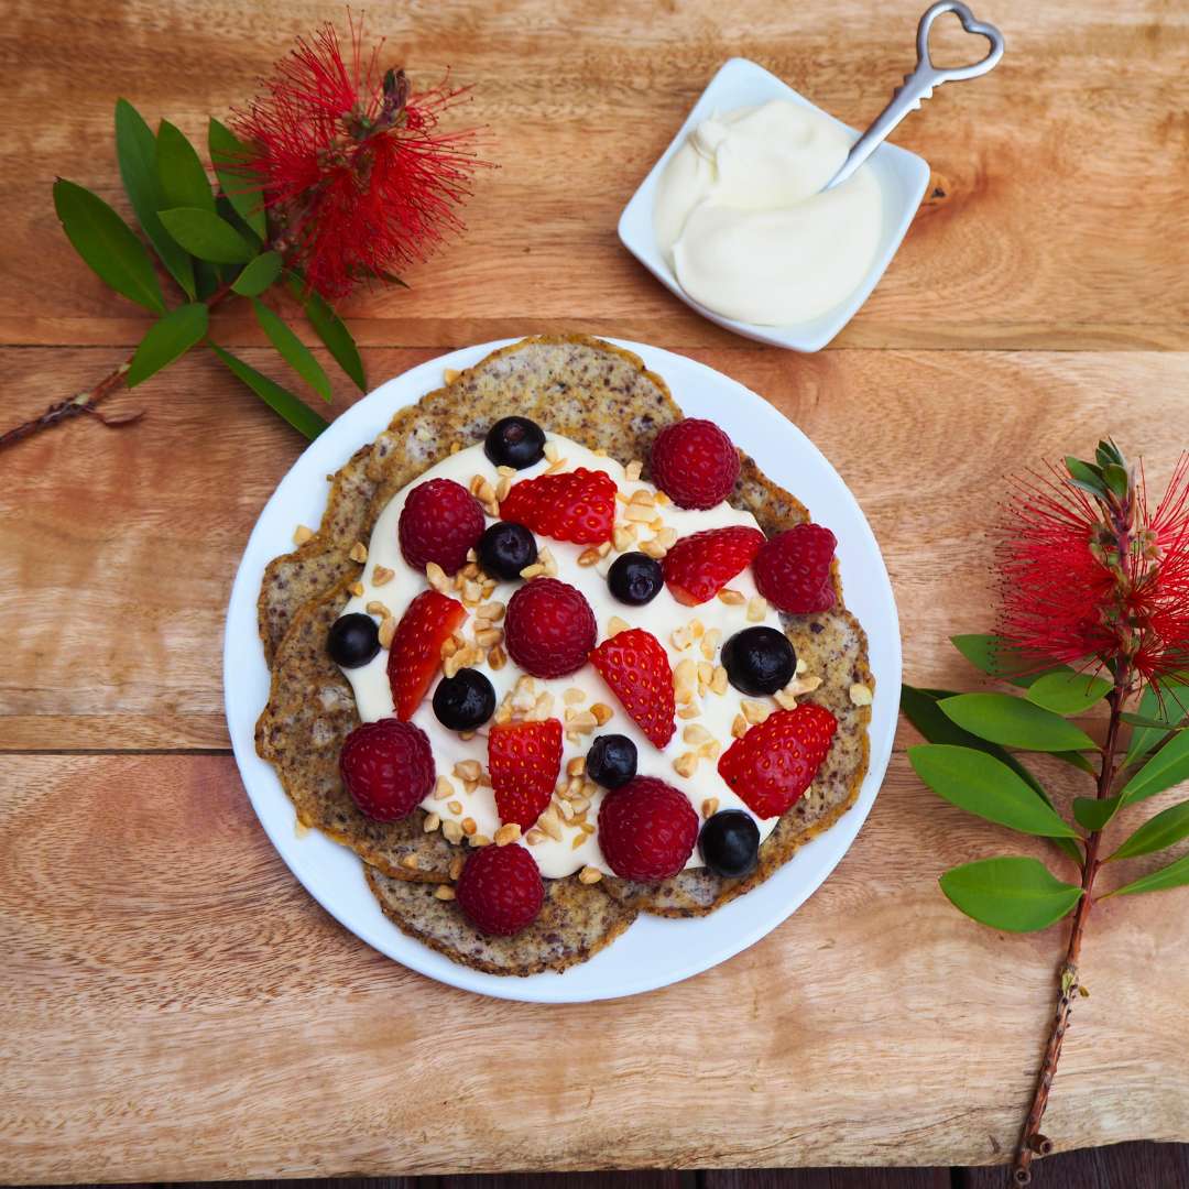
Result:
[[[874,681],[833,548],[636,357],[524,340],[401,410],[269,567],[258,750],[402,930],[565,969],[854,803]]]

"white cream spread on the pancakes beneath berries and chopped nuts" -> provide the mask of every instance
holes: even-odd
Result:
[[[637,491],[648,492],[650,496],[656,495],[656,489],[652,484],[638,479],[629,479],[624,467],[615,459],[597,455],[584,446],[556,434],[548,434],[547,440],[556,449],[555,457],[559,459],[559,470],[571,471],[581,466],[592,471],[605,471],[615,480],[619,492],[629,501]],[[552,449],[551,453],[553,453]],[[531,467],[517,472],[511,482],[515,484],[522,479],[533,478],[543,473],[549,467],[551,463],[542,460]],[[400,619],[414,597],[428,586],[424,573],[420,570],[414,570],[404,560],[397,540],[397,522],[404,508],[408,492],[414,486],[434,478],[454,479],[463,486],[470,487],[474,476],[482,476],[492,487],[496,487],[501,479],[497,468],[486,458],[483,447],[478,445],[461,449],[442,459],[392,497],[377,518],[371,540],[367,543],[367,562],[364,566],[360,578],[363,593],[351,599],[344,609],[344,614],[352,611],[366,614],[365,609],[367,604],[376,600],[383,603]],[[628,508],[629,503],[623,499],[616,501],[617,527],[631,523],[628,520]],[[707,511],[691,511],[677,508],[671,503],[662,503],[654,509],[654,512],[655,516],[663,521],[663,527],[673,529],[679,537],[688,536],[704,529],[723,528],[730,524],[756,527],[755,517],[750,512],[738,511],[726,503],[719,504],[717,508]],[[490,523],[492,517],[489,516],[487,521]],[[641,542],[650,540],[656,531],[660,531],[642,522],[636,522],[636,524],[638,529],[637,541],[628,545],[628,549],[638,548]],[[543,536],[537,537],[537,543],[541,547],[548,547],[556,560],[558,578],[578,587],[586,596],[594,612],[600,642],[609,635],[609,624],[612,618],[618,617],[631,628],[644,628],[650,631],[665,646],[672,666],[677,667],[681,661],[686,660],[692,661],[694,666],[700,662],[704,666],[703,674],[705,675],[705,666],[718,665],[718,654],[722,643],[736,631],[757,623],[780,628],[778,614],[759,598],[749,570],[744,570],[743,573],[728,584],[729,590],[737,591],[742,596],[741,602],[737,604],[728,604],[718,598],[713,598],[699,606],[684,606],[673,598],[667,587],[662,587],[660,593],[647,605],[625,606],[612,597],[606,584],[606,572],[611,562],[618,556],[618,553],[614,548],[597,565],[587,566],[579,565],[578,561],[584,551],[589,548],[587,546],[555,541]],[[377,586],[375,584],[377,567],[391,570],[395,574],[391,579]],[[498,600],[507,605],[520,585],[522,584],[501,583],[485,602]],[[755,602],[751,603],[751,600]],[[468,611],[472,614],[468,615],[461,628],[461,634],[468,643],[474,641],[477,630],[477,619],[473,610],[473,608],[468,608]],[[378,621],[380,617],[373,615],[373,618]],[[696,624],[700,624],[702,628],[697,638],[694,638],[694,633],[697,631]],[[479,623],[480,629],[484,627],[489,625]],[[496,627],[502,627],[502,624],[496,624]],[[687,647],[678,647],[678,644],[685,643],[684,635],[679,629],[685,629],[685,634],[690,636]],[[674,641],[674,633],[678,633],[677,641]],[[717,635],[715,635],[716,633]],[[706,646],[705,650],[703,649],[703,644]],[[524,675],[510,659],[499,669],[493,669],[489,660],[484,660],[483,663],[474,667],[480,669],[491,680],[496,691],[497,704],[503,702],[504,697],[514,691],[517,680]],[[686,666],[686,669],[688,669],[688,666]],[[360,668],[344,669],[342,672],[354,690],[359,717],[364,722],[375,722],[378,718],[392,715],[392,693],[388,681],[388,649],[382,648],[379,654],[367,665]],[[446,776],[448,779],[452,792],[446,797],[439,797],[435,793],[422,801],[422,807],[438,813],[443,823],[451,820],[461,823],[466,818],[471,818],[474,822],[477,835],[493,838],[501,823],[496,812],[492,789],[489,785],[480,784],[472,792],[466,792],[463,780],[454,775],[455,765],[468,760],[477,761],[484,769],[484,773],[486,772],[487,730],[490,724],[479,728],[478,732],[470,740],[465,740],[459,732],[445,728],[434,715],[432,705],[433,688],[436,686],[438,680],[441,680],[440,675],[435,679],[434,686],[430,687],[424,702],[422,702],[413,716],[413,722],[428,735],[433,747],[438,775],[439,778]],[[721,686],[722,681],[719,680],[718,684]],[[573,691],[580,692],[581,700],[577,700],[577,693]],[[566,697],[567,692],[570,693],[570,699]],[[699,817],[703,813],[704,803],[710,799],[717,799],[717,807],[719,810],[741,809],[750,812],[718,774],[717,759],[705,756],[697,759],[697,766],[690,775],[681,775],[674,769],[674,761],[680,762],[684,756],[691,753],[697,756],[699,748],[706,747],[706,743],[702,741],[702,736],[697,731],[690,734],[694,740],[699,740],[700,742],[688,742],[682,737],[691,726],[697,726],[705,731],[712,741],[717,742],[722,750],[726,750],[734,742],[731,724],[742,713],[744,696],[732,686],[726,686],[723,693],[716,693],[712,688],[705,686],[699,688],[698,682],[694,681],[690,705],[697,706],[699,713],[697,717],[691,718],[678,717],[677,730],[663,750],[659,750],[648,741],[635,722],[623,710],[598,672],[589,663],[570,677],[552,680],[536,679],[535,693],[537,696],[543,693],[553,696],[553,709],[548,717],[562,719],[564,726],[566,726],[565,717],[567,710],[573,710],[574,712],[589,711],[596,703],[602,703],[614,710],[614,717],[605,725],[596,726],[593,730],[584,734],[570,731],[564,736],[564,753],[559,781],[566,781],[566,767],[568,762],[575,756],[585,756],[591,743],[598,735],[619,734],[627,735],[636,744],[638,774],[658,776],[679,788],[690,798]],[[768,709],[775,709],[775,703],[772,699],[747,700],[766,703]],[[685,767],[687,763],[686,761],[682,766]],[[591,826],[596,826],[596,832],[586,832],[581,829],[580,824],[571,824],[559,816],[559,820],[561,822],[560,841],[542,835],[533,845],[528,845],[526,839],[521,839],[521,844],[527,845],[529,854],[536,860],[542,874],[546,876],[559,879],[586,866],[598,868],[605,874],[611,874],[611,869],[608,867],[599,850],[597,835],[598,807],[602,803],[604,791],[587,781],[583,795],[590,799],[590,805],[585,809],[585,822]],[[755,814],[751,816],[755,817]],[[778,818],[756,818],[761,841],[772,832],[778,820]],[[686,866],[703,866],[697,847]]]

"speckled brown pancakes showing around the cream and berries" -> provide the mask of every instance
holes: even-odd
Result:
[[[339,750],[359,717],[325,642],[360,572],[348,556],[351,547],[369,539],[389,499],[445,458],[452,445],[480,440],[509,413],[623,463],[646,461],[656,433],[682,416],[665,382],[636,356],[581,335],[526,339],[501,348],[400,410],[376,442],[332,478],[327,511],[314,537],[268,567],[259,628],[272,685],[257,724],[257,749],[277,768],[298,819],[370,864],[369,885],[402,930],[476,969],[523,975],[584,961],[627,927],[637,910],[661,916],[710,912],[767,879],[807,838],[837,820],[854,803],[868,760],[870,707],[854,705],[849,690],[853,682],[872,686],[873,680],[866,636],[842,605],[835,566],[836,609],[786,617],[786,630],[810,672],[824,678],[812,700],[836,715],[838,732],[812,789],[762,844],[756,873],[724,880],[692,869],[648,886],[610,877],[594,885],[579,883],[575,876],[546,880],[548,927],[526,930],[510,939],[517,944],[478,935],[452,901],[435,899],[433,888],[424,886],[448,880],[451,861],[460,854],[440,832],[424,831],[424,811],[415,810],[403,822],[377,823],[356,809],[342,787]],[[751,511],[769,535],[810,518],[795,497],[746,457],[730,503]]]

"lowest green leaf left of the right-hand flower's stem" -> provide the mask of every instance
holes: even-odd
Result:
[[[968,917],[1011,933],[1031,933],[1061,920],[1082,889],[1055,879],[1036,858],[982,858],[954,867],[942,891]]]

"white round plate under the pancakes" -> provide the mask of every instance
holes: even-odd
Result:
[[[895,602],[855,497],[795,426],[742,384],[703,364],[638,342],[619,342],[666,379],[687,415],[719,422],[766,474],[800,498],[813,518],[838,537],[847,605],[867,629],[876,678],[870,769],[857,804],[755,891],[698,919],[641,916],[614,944],[565,974],[528,979],[482,974],[405,937],[380,912],[351,850],[317,831],[298,836],[292,805],[276,773],[256,754],[253,730],[269,694],[256,600],[264,567],[292,547],[294,528],[317,524],[326,504],[326,476],[375,439],[397,409],[440,388],[443,369],[468,367],[503,345],[453,351],[382,384],[312,442],[282,479],[256,522],[232,589],[224,637],[227,725],[244,786],[281,857],[319,904],[369,945],[440,982],[501,999],[555,1004],[634,995],[700,974],[757,942],[804,904],[847,853],[875,803],[892,751],[900,704]]]

